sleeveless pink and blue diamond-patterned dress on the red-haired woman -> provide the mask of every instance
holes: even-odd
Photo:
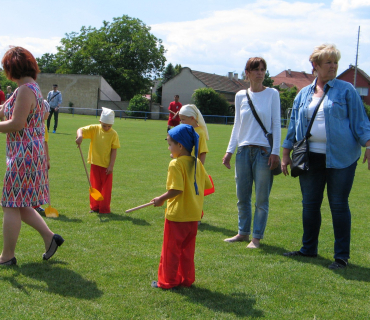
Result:
[[[37,105],[30,111],[25,127],[6,137],[6,173],[3,207],[31,207],[49,202],[48,169],[44,146],[44,104],[37,83],[25,84],[36,96]],[[18,89],[5,102],[6,119],[13,116]]]

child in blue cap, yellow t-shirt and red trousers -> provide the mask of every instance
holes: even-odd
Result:
[[[198,156],[199,136],[190,125],[168,131],[168,149],[173,160],[168,167],[167,192],[154,198],[154,206],[167,200],[164,237],[158,281],[152,287],[190,287],[195,281],[194,253],[204,190],[212,186]],[[195,149],[195,157],[191,156]]]

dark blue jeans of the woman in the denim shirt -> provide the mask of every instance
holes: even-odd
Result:
[[[344,169],[326,168],[326,155],[310,152],[310,169],[299,176],[303,205],[303,254],[317,254],[321,226],[321,203],[327,185],[334,228],[334,259],[349,259],[351,212],[348,197],[357,161]]]

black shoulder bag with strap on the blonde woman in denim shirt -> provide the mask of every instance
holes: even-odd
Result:
[[[292,164],[290,165],[290,169],[291,169],[291,175],[294,178],[300,176],[302,173],[308,171],[309,169],[309,151],[310,150],[309,150],[308,139],[311,137],[310,131],[311,131],[312,124],[315,120],[317,111],[319,110],[320,104],[324,100],[325,95],[329,91],[329,89],[330,87],[327,85],[323,96],[320,98],[315,108],[315,111],[312,114],[312,118],[308,125],[306,135],[304,136],[302,140],[297,141],[293,145]]]

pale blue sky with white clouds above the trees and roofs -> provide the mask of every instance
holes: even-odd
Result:
[[[370,0],[15,0],[2,17],[0,56],[9,45],[56,52],[66,33],[124,14],[151,26],[167,63],[221,75],[240,74],[251,56],[263,56],[271,75],[310,72],[308,57],[325,42],[341,51],[341,73],[355,63],[361,26],[359,67],[370,75]]]

